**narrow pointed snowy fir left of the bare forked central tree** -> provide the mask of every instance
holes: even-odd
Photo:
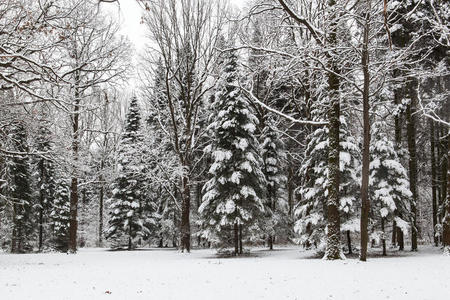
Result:
[[[106,238],[112,248],[135,247],[135,239],[149,234],[143,217],[142,141],[138,100],[132,97],[128,109],[125,130],[118,150],[118,175],[112,184],[109,200],[110,220]]]

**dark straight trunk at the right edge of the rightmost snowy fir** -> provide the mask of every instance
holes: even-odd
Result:
[[[408,119],[408,151],[409,151],[409,185],[412,193],[411,214],[412,214],[412,232],[411,232],[411,251],[417,251],[417,155],[416,155],[416,105],[417,105],[417,79],[409,78],[409,96],[410,103],[406,108],[406,117]]]

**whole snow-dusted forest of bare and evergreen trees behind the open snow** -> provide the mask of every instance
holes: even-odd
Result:
[[[448,3],[316,2],[2,4],[2,246],[449,246]]]

